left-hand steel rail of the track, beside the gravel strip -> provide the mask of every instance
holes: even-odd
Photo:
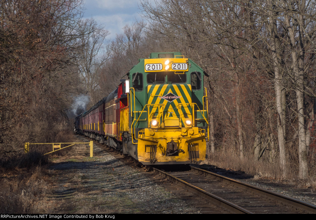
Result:
[[[246,210],[238,205],[235,205],[234,203],[231,203],[225,199],[222,199],[222,198],[220,198],[212,193],[206,192],[205,190],[198,188],[196,186],[193,186],[190,183],[187,183],[183,180],[180,180],[179,178],[177,178],[173,175],[170,175],[166,172],[163,172],[157,168],[152,168],[152,169],[154,172],[160,174],[163,177],[166,177],[168,180],[171,180],[174,183],[177,183],[181,186],[184,186],[186,189],[189,189],[190,191],[197,193],[199,196],[203,197],[204,199],[208,199],[212,203],[219,205],[219,206],[221,206],[221,207],[223,207],[231,212],[239,213],[239,214],[252,214],[252,212],[250,212],[250,211],[248,211],[248,210]]]

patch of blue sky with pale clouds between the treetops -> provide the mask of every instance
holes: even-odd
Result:
[[[93,18],[111,34],[107,40],[113,40],[116,33],[122,33],[126,24],[141,20],[138,9],[140,0],[85,0],[84,18]]]

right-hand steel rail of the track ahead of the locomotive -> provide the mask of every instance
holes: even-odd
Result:
[[[316,213],[316,206],[315,205],[312,205],[312,204],[309,204],[309,203],[306,203],[306,202],[303,202],[301,200],[294,199],[294,198],[291,198],[288,196],[284,196],[282,194],[272,192],[270,190],[266,190],[266,189],[252,186],[252,185],[249,185],[249,184],[237,181],[237,180],[233,180],[233,179],[230,179],[228,177],[225,177],[225,176],[222,176],[222,175],[219,175],[216,173],[212,173],[212,172],[204,170],[204,169],[200,169],[200,168],[197,168],[194,166],[190,166],[190,167],[191,167],[191,170],[193,170],[194,172],[197,172],[200,174],[205,174],[209,177],[212,177],[215,180],[230,184],[230,185],[238,187],[238,188],[245,189],[247,191],[257,193],[261,196],[264,196],[264,197],[267,197],[270,199],[275,199],[279,202],[283,202],[283,203],[286,203],[288,205],[292,205],[292,206],[300,208],[302,210],[306,210],[308,213]]]

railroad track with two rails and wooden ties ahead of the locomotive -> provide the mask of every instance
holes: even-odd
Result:
[[[316,213],[316,206],[191,166],[154,172],[233,213]]]

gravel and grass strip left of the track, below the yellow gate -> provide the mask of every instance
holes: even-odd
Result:
[[[200,213],[96,144],[93,158],[58,159],[50,170],[52,213]]]

